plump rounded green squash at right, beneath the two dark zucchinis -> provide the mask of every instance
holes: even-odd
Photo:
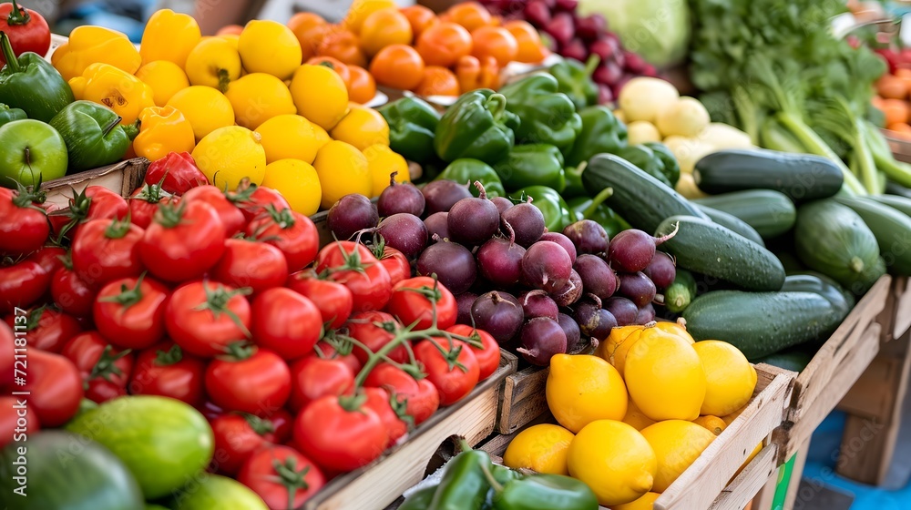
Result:
[[[834,200],[818,200],[797,210],[797,257],[855,295],[885,274],[873,232],[855,211]]]

